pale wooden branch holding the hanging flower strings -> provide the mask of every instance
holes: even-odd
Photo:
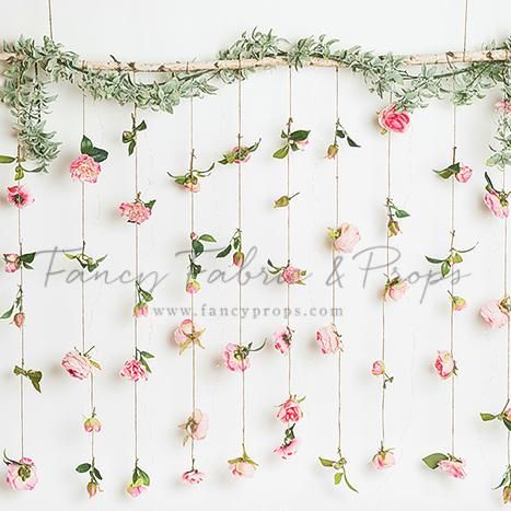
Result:
[[[0,62],[16,58],[16,54],[0,53]],[[483,51],[448,51],[446,54],[422,54],[404,56],[406,66],[435,65],[448,62],[492,62],[511,60],[511,51],[507,49],[493,49]],[[206,62],[164,62],[164,63],[139,63],[139,62],[97,62],[84,61],[86,69],[101,71],[137,71],[137,72],[191,72],[191,71],[218,71],[256,68],[278,68],[288,66],[286,58],[267,57],[258,59],[242,60],[214,60]],[[306,67],[335,68],[335,60],[313,58]]]

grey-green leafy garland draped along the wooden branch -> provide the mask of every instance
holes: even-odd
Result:
[[[291,44],[271,31],[254,30],[244,33],[229,48],[219,53],[222,60],[263,59],[278,57],[300,69],[311,59],[330,59],[339,66],[361,74],[370,92],[383,97],[393,94],[397,112],[413,112],[426,107],[432,100],[448,98],[456,105],[467,105],[483,98],[489,89],[501,88],[503,95],[511,95],[511,66],[509,61],[484,61],[449,66],[422,66],[420,71],[408,71],[402,57],[391,53],[380,56],[364,51],[359,46],[337,48],[338,40],[326,36],[305,37]],[[511,37],[502,44],[491,44],[487,49],[511,50]],[[38,46],[34,39],[20,37],[15,43],[4,43],[3,51],[16,54],[4,71],[0,97],[16,119],[14,129],[23,149],[24,160],[33,162],[27,172],[47,172],[48,164],[59,153],[56,133],[46,126],[50,104],[56,96],[49,84],[70,82],[89,93],[94,100],[115,100],[120,105],[136,104],[172,113],[183,98],[213,94],[219,82],[232,83],[249,69],[167,72],[153,82],[135,82],[132,72],[126,70],[100,71],[86,69],[73,51],[49,37]],[[488,164],[503,169],[511,162],[511,133],[509,116],[499,118],[496,143]]]

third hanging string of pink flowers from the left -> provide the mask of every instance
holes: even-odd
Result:
[[[135,78],[135,73],[133,73]],[[133,112],[131,115],[132,125],[135,127],[140,126],[137,121],[137,105],[133,105]],[[143,123],[146,127],[146,123]],[[123,136],[124,138],[125,135]],[[153,300],[152,294],[142,289],[140,284],[140,272],[139,272],[139,225],[146,222],[152,212],[152,208],[155,204],[155,200],[150,200],[149,202],[143,202],[141,199],[141,191],[139,189],[139,169],[138,169],[138,144],[136,137],[132,139],[135,141],[132,150],[128,147],[128,153],[133,154],[135,156],[135,201],[132,202],[123,202],[119,206],[119,211],[123,218],[127,220],[128,223],[135,224],[135,305],[133,305],[133,355],[132,358],[127,360],[120,371],[120,376],[129,380],[133,384],[133,433],[135,433],[135,466],[131,474],[131,480],[129,481],[126,491],[131,497],[139,497],[146,492],[151,484],[149,474],[143,471],[140,466],[139,460],[139,417],[138,417],[138,384],[140,381],[147,381],[149,374],[151,373],[151,368],[149,361],[154,358],[149,351],[141,350],[139,348],[139,335],[138,335],[138,322],[148,315],[148,302]]]

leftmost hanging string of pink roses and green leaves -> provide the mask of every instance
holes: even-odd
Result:
[[[18,91],[20,95],[21,76],[18,78]],[[4,156],[2,156],[5,159]],[[12,306],[2,314],[2,320],[10,320],[20,330],[20,362],[14,365],[13,373],[20,378],[20,457],[12,460],[3,451],[3,462],[7,465],[7,484],[13,490],[33,490],[38,483],[37,468],[31,457],[25,456],[25,379],[28,380],[35,391],[40,393],[40,382],[43,372],[27,369],[25,365],[25,311],[24,311],[24,271],[32,269],[32,262],[35,253],[25,254],[23,251],[23,217],[22,209],[31,205],[34,200],[27,188],[22,185],[24,172],[20,170],[21,162],[24,161],[22,144],[18,138],[16,156],[10,159],[10,163],[15,162],[16,185],[8,188],[8,201],[18,208],[18,246],[19,254],[4,254],[5,271],[9,274],[19,272],[18,293]]]

